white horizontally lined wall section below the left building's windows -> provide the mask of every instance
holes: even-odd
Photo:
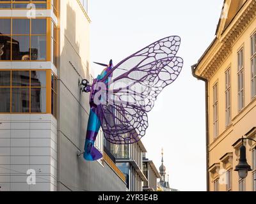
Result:
[[[0,115],[1,191],[56,191],[56,127],[51,114]],[[38,177],[35,186],[26,183],[30,169]]]

